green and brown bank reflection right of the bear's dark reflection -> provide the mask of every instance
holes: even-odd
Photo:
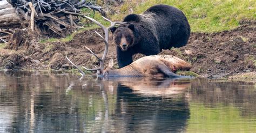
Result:
[[[256,131],[254,83],[197,79],[188,94],[188,132]]]

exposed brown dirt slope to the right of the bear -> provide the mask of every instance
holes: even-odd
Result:
[[[188,44],[164,51],[192,63],[192,71],[206,77],[231,76],[255,71],[256,25],[248,23],[232,31],[192,33]]]

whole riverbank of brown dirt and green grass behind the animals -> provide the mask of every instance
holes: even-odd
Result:
[[[163,50],[160,54],[174,55],[190,62],[189,72],[179,74],[208,78],[256,79],[256,19],[255,3],[251,1],[130,1],[102,4],[111,20],[122,21],[129,13],[142,13],[155,4],[169,4],[182,10],[191,25],[188,44],[181,48]],[[101,4],[101,3],[98,3]],[[88,13],[88,11],[84,11]],[[99,13],[95,19],[109,25]],[[84,20],[85,21],[85,20]],[[83,23],[83,20],[82,20]],[[65,56],[79,66],[94,68],[97,59],[86,49],[89,47],[99,56],[104,51],[104,42],[95,31],[103,34],[95,24],[86,21],[85,28],[66,38],[44,38],[16,31],[8,45],[0,43],[0,68],[23,70],[75,70]],[[86,27],[87,26],[87,27]],[[143,55],[134,56],[134,60]],[[110,33],[110,46],[106,62],[114,59],[117,69],[116,46]],[[105,64],[106,66],[107,64]],[[87,74],[91,72],[86,71]],[[253,73],[253,74],[252,74]]]

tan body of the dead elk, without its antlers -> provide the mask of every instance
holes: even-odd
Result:
[[[103,70],[107,77],[177,77],[175,71],[188,70],[191,65],[172,55],[152,55],[139,58],[132,64],[121,69]]]

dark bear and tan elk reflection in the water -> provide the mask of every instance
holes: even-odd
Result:
[[[118,78],[117,125],[130,131],[184,131],[190,110],[190,82],[176,79]]]

